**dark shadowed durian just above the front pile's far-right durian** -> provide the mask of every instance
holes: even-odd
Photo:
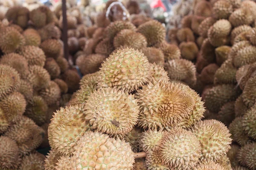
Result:
[[[221,110],[218,112],[219,121],[224,123],[227,127],[230,123],[235,119],[235,102],[227,102],[225,105],[221,107]]]

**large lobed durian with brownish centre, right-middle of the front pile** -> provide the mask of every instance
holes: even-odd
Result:
[[[138,125],[143,129],[175,127],[189,117],[195,105],[190,94],[182,91],[182,85],[161,80],[149,82],[137,91],[140,105]]]

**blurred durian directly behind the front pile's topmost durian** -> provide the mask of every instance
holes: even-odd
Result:
[[[123,29],[118,34],[116,34],[113,45],[115,48],[120,46],[126,46],[134,49],[141,49],[147,46],[147,40],[138,32],[129,29]]]

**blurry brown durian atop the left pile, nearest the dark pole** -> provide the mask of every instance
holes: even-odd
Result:
[[[40,6],[30,12],[29,19],[36,28],[42,28],[54,22],[54,13],[47,6]]]

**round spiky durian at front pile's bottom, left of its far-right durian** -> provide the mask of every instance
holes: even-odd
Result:
[[[201,157],[199,140],[182,128],[172,129],[160,147],[163,162],[175,169],[189,170]]]

